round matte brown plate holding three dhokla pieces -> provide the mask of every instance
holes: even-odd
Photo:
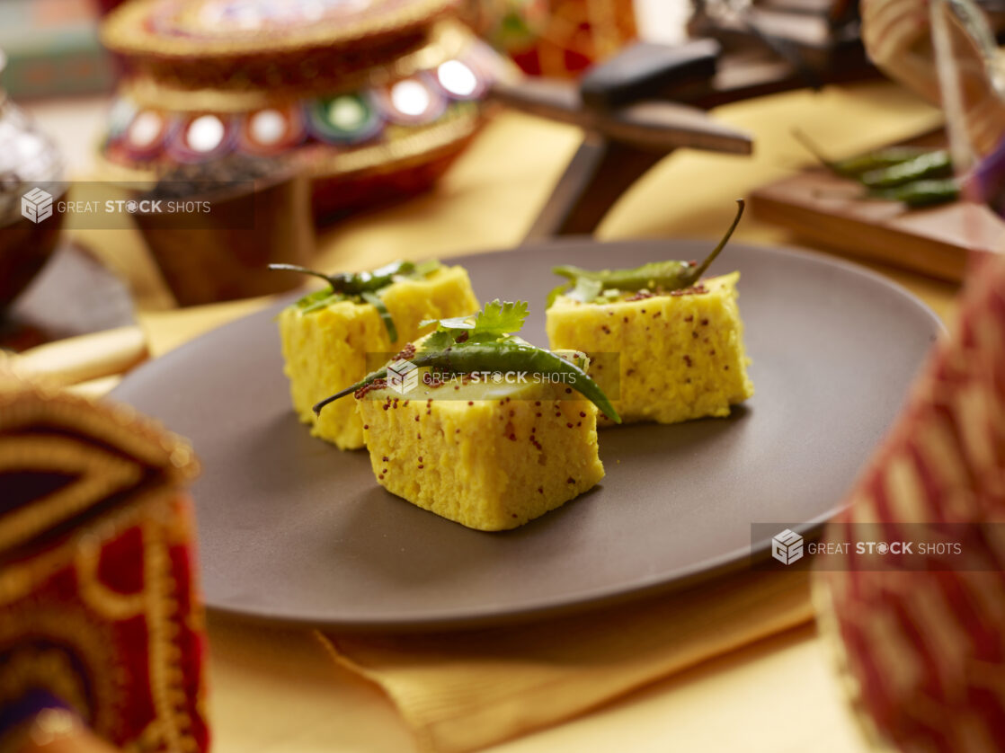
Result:
[[[532,301],[546,343],[554,264],[633,266],[708,242],[586,240],[452,260],[482,299]],[[752,554],[751,524],[825,520],[897,412],[940,330],[857,266],[731,245],[757,395],[729,419],[604,430],[607,477],[514,531],[482,533],[377,486],[365,452],[308,436],[290,411],[270,308],[130,374],[114,397],[190,437],[211,607],[341,630],[526,619],[692,583]],[[753,553],[767,541],[755,542]]]

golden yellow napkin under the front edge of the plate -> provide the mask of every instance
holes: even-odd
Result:
[[[463,753],[575,717],[812,617],[802,572],[744,572],[687,591],[524,626],[331,636],[380,686],[422,753]]]

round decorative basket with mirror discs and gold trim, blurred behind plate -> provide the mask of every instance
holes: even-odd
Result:
[[[133,0],[103,29],[128,70],[103,173],[288,158],[330,214],[427,188],[505,63],[451,0]]]

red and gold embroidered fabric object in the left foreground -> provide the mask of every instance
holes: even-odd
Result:
[[[0,375],[0,708],[48,698],[119,747],[207,749],[195,472],[131,410]]]

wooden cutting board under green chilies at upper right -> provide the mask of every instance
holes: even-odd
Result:
[[[1005,221],[983,206],[910,210],[863,194],[857,183],[819,168],[758,189],[751,208],[815,244],[947,280],[963,278],[971,254],[1005,251]]]

